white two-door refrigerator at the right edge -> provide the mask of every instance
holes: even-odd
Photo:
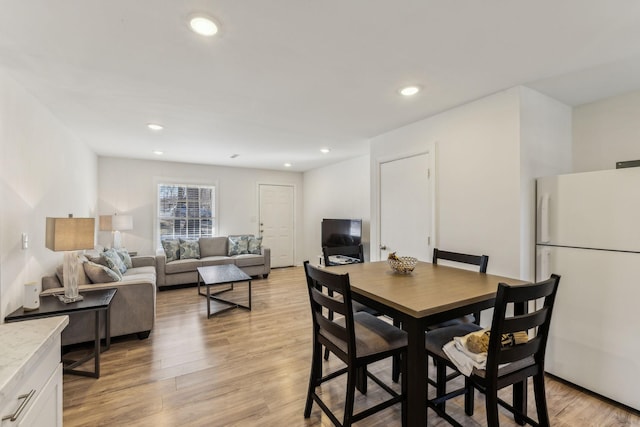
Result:
[[[537,180],[536,280],[560,274],[547,372],[640,410],[640,168]]]

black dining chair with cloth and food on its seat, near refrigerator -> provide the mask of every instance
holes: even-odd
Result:
[[[452,425],[460,426],[460,423],[445,412],[442,403],[452,397],[465,394],[465,412],[467,415],[473,415],[473,391],[478,389],[485,394],[487,425],[499,426],[498,404],[500,404],[513,412],[519,423],[548,426],[544,357],[559,282],[560,276],[553,274],[547,280],[527,285],[510,286],[500,283],[488,340],[485,369],[474,368],[471,375],[465,377],[463,389],[450,393],[436,392],[436,397],[429,400],[427,406]],[[541,303],[540,299],[544,302]],[[530,302],[533,304],[529,304]],[[531,305],[536,305],[536,308],[532,312],[527,312],[527,307]],[[513,308],[514,314],[508,315],[508,308]],[[458,324],[429,332],[425,336],[427,354],[437,361],[438,366],[446,365],[457,370],[456,365],[442,348],[454,337],[461,337],[478,330],[481,328],[475,324]],[[512,340],[504,340],[519,332],[528,334],[529,339],[526,343],[513,344]],[[533,377],[537,421],[517,408],[515,394],[513,405],[498,398],[498,390],[523,383],[526,387],[529,377]],[[526,405],[526,402],[524,404]]]

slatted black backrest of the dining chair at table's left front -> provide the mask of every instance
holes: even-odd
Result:
[[[347,363],[356,355],[349,275],[313,267],[308,261],[305,261],[304,269],[311,303],[314,340]],[[333,313],[343,316],[344,320],[336,322]]]

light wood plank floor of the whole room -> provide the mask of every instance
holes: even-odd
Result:
[[[239,287],[239,293],[246,288]],[[157,320],[146,340],[114,340],[102,355],[102,376],[64,376],[64,424],[72,426],[330,426],[317,405],[303,418],[311,349],[311,320],[301,267],[276,269],[253,282],[253,310],[206,318],[195,288],[158,293]],[[327,368],[339,366],[333,356]],[[390,362],[371,371],[390,381]],[[341,414],[344,382],[323,386]],[[357,405],[383,392],[369,383]],[[476,394],[473,418],[462,398],[447,410],[468,426],[485,426],[484,400]],[[531,400],[530,408],[535,413]],[[640,417],[551,378],[547,401],[554,426],[640,426]],[[398,405],[396,405],[398,406]],[[506,414],[502,425],[516,425]],[[359,426],[400,425],[399,407]],[[447,425],[429,412],[429,426]]]

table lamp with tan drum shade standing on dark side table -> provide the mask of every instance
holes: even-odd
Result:
[[[50,218],[47,217],[45,245],[52,251],[64,251],[62,276],[64,281],[64,295],[60,301],[70,303],[83,299],[78,293],[78,262],[77,250],[93,249],[95,240],[95,218]]]

